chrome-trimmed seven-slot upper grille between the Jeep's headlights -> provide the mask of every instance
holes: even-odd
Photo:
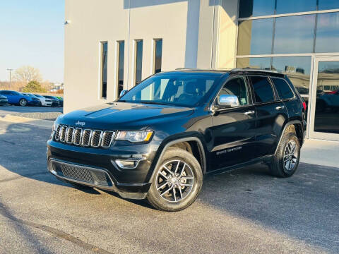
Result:
[[[55,131],[54,140],[69,145],[84,147],[108,148],[114,140],[115,131],[101,131],[59,125]]]

